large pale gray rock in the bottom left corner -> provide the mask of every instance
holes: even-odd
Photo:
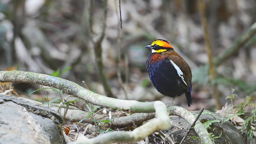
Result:
[[[0,94],[0,144],[62,144],[58,112]]]

